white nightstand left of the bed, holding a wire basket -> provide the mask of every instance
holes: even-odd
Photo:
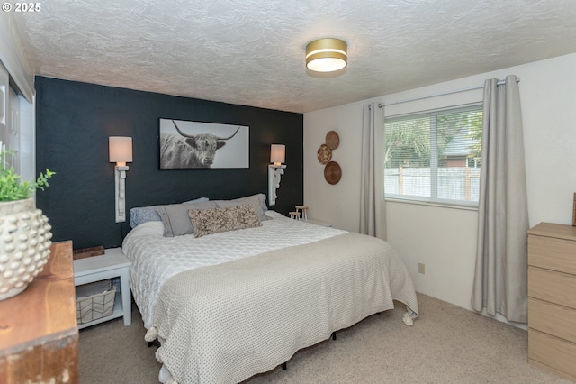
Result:
[[[102,256],[74,261],[74,285],[92,283],[103,279],[120,278],[120,292],[116,293],[112,315],[78,325],[78,329],[96,325],[117,317],[124,317],[124,325],[132,322],[130,305],[130,264],[121,248],[109,248]]]

